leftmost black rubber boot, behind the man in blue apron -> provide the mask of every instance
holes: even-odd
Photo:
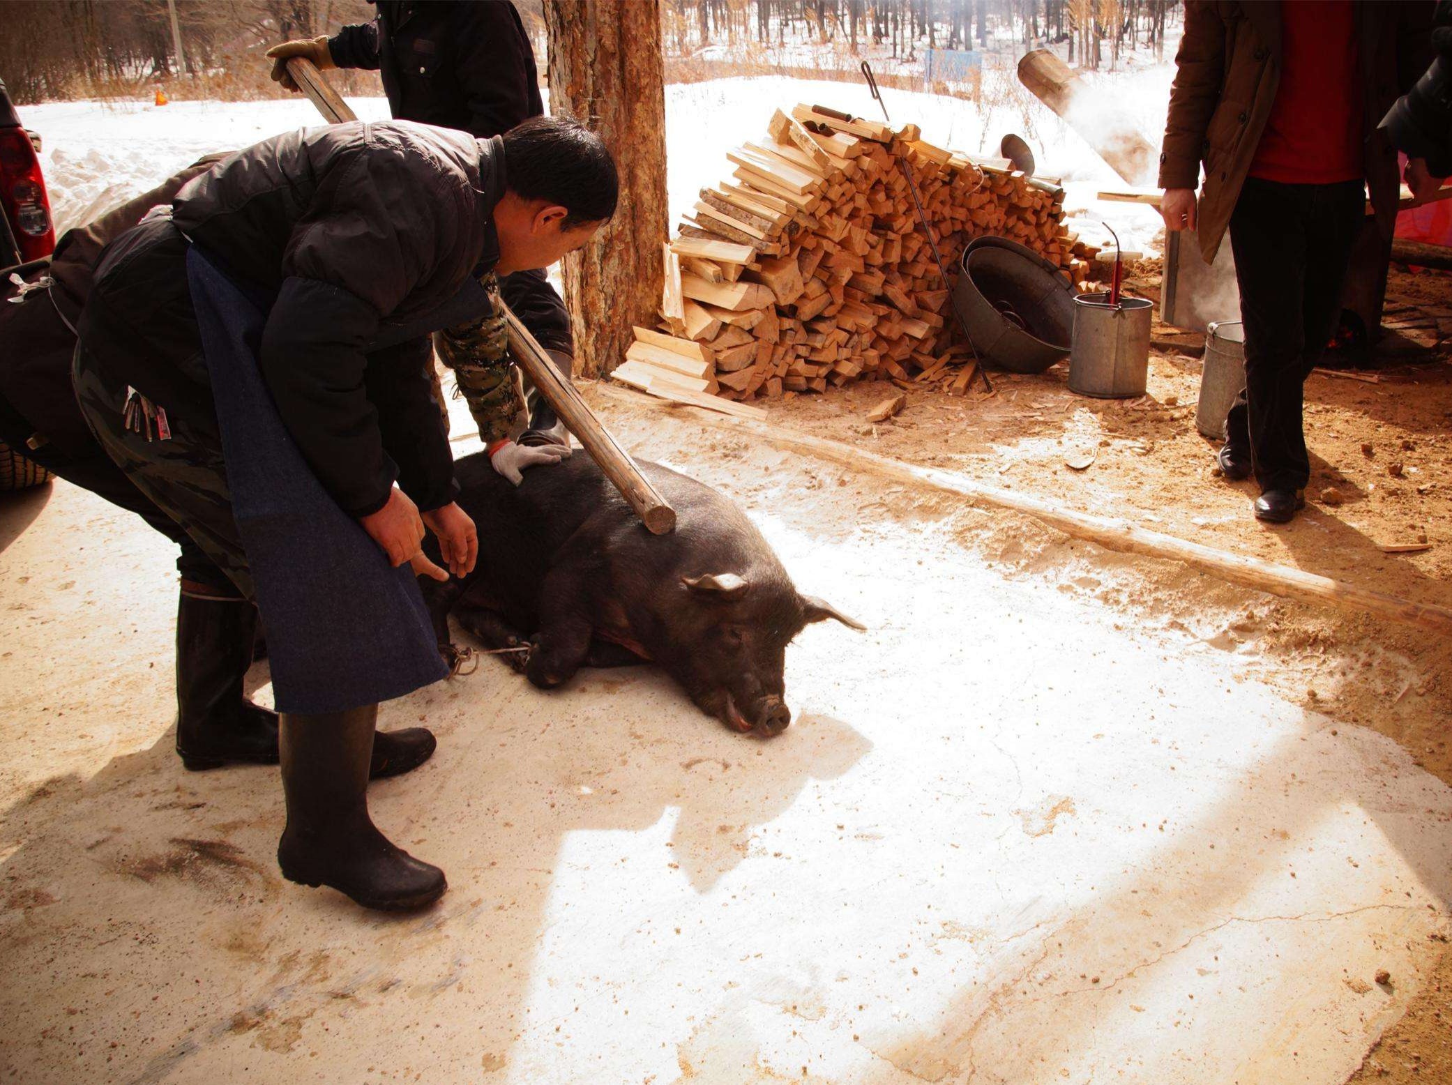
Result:
[[[197,594],[177,600],[177,754],[192,770],[277,764],[277,716],[242,696],[257,607]]]

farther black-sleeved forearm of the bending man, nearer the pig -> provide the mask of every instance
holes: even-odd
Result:
[[[367,398],[388,404],[378,415],[383,449],[398,463],[398,488],[420,513],[443,508],[459,495],[449,434],[428,379],[433,363],[425,336],[369,354],[363,378]]]

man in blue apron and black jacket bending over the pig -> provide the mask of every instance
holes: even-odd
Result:
[[[234,154],[100,257],[76,394],[258,603],[293,882],[395,911],[446,887],[366,803],[378,702],[446,674],[404,566],[447,578],[425,530],[454,574],[478,552],[423,359],[433,331],[489,314],[481,279],[559,260],[616,199],[608,151],[571,121],[492,139],[353,122]]]

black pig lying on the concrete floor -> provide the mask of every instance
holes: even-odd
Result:
[[[802,596],[752,523],[710,487],[639,462],[675,508],[652,536],[585,453],[511,485],[484,453],[454,463],[459,504],[479,527],[479,562],[463,580],[420,580],[444,658],[449,616],[540,688],[581,667],[659,664],[703,712],[775,735],[787,645],[835,607]],[[434,553],[437,559],[437,553]]]

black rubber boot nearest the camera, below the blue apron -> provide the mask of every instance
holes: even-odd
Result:
[[[367,813],[378,704],[325,716],[282,718],[282,789],[287,828],[277,866],[289,882],[331,886],[364,908],[411,912],[449,887],[378,831]]]

